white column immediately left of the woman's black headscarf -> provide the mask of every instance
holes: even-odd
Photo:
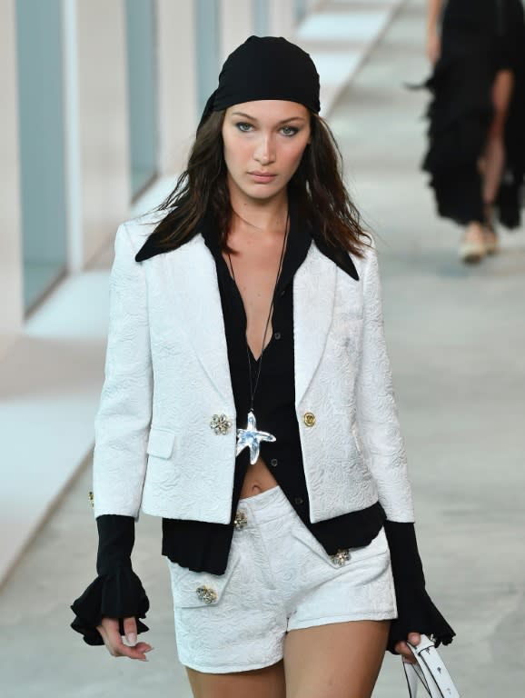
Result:
[[[157,0],[159,172],[179,174],[198,123],[193,0]]]

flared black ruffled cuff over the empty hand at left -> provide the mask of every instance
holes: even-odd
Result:
[[[124,618],[134,617],[137,633],[149,630],[139,618],[145,618],[150,603],[144,587],[131,566],[118,567],[112,573],[97,577],[71,606],[76,617],[71,627],[84,635],[87,644],[104,644],[96,626],[104,617],[120,620],[124,635]]]

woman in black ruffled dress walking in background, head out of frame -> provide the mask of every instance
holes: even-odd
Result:
[[[494,208],[520,224],[525,171],[525,24],[521,0],[429,0],[429,150],[423,168],[440,215],[465,226],[461,260],[498,248]]]

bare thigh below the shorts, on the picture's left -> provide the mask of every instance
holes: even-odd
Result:
[[[239,673],[202,673],[188,669],[194,698],[285,698],[282,662]]]

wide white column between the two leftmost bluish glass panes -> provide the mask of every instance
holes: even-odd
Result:
[[[124,0],[77,0],[76,14],[85,265],[131,204]]]

